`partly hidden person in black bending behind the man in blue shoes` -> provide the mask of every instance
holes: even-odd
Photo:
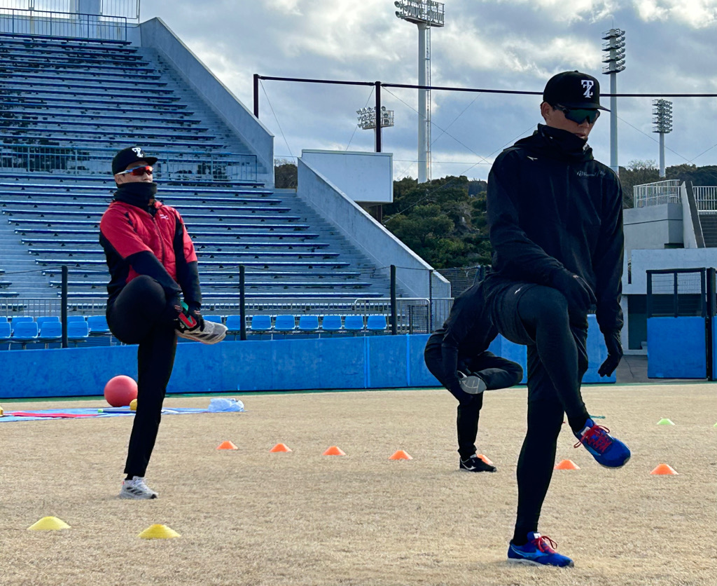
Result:
[[[488,351],[497,335],[478,283],[455,298],[447,320],[424,350],[428,370],[458,400],[458,467],[466,472],[495,472],[495,466],[476,455],[483,391],[507,389],[523,378],[520,364]]]

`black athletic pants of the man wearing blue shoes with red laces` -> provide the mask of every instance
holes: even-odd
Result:
[[[518,457],[518,515],[513,542],[526,542],[538,519],[555,465],[563,414],[574,432],[589,417],[580,394],[587,371],[587,316],[570,316],[557,289],[516,284],[493,299],[493,321],[528,346],[528,432]]]

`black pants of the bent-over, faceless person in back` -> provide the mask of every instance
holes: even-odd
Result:
[[[478,435],[478,418],[480,408],[483,406],[483,393],[471,395],[460,389],[452,390],[443,373],[440,345],[427,345],[424,358],[431,374],[458,399],[456,418],[458,453],[462,460],[467,460],[476,452],[475,437]],[[487,389],[506,389],[519,383],[523,378],[523,369],[520,365],[491,352],[483,352],[475,357],[459,356],[458,370],[478,374],[483,378]]]

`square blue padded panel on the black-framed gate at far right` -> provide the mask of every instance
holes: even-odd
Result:
[[[647,376],[705,378],[707,376],[705,318],[647,319]]]

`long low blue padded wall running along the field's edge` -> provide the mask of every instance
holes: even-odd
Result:
[[[435,387],[438,381],[423,361],[427,339],[428,335],[418,334],[182,343],[177,346],[167,391]],[[589,338],[593,369],[602,361],[601,344],[599,332]],[[498,338],[490,348],[525,367],[525,347]],[[137,348],[12,350],[0,352],[0,368],[4,373],[0,399],[101,395],[113,376],[136,378]],[[607,382],[595,377],[593,381],[586,376],[586,382]]]

